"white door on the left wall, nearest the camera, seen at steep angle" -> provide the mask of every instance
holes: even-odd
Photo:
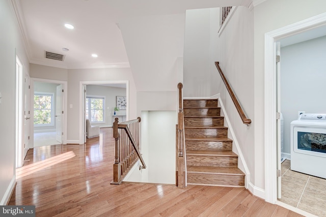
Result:
[[[30,76],[25,73],[24,79],[24,139],[23,139],[23,158],[25,158],[27,151],[30,148],[31,138],[31,110],[30,110],[30,97],[31,97],[31,81]]]

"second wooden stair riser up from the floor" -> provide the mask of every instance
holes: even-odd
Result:
[[[237,167],[237,157],[220,156],[201,156],[188,155],[186,157],[187,166],[206,166],[206,167]]]

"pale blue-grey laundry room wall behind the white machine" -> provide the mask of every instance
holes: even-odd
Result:
[[[284,152],[290,153],[290,123],[298,111],[326,113],[326,36],[281,48],[281,112]]]

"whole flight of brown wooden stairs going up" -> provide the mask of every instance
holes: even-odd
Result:
[[[244,187],[218,100],[183,100],[187,184]]]

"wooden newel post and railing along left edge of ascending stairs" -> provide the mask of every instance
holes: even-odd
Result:
[[[178,83],[178,124],[176,125],[176,186],[186,187],[186,162],[185,162],[185,141],[184,141],[184,122],[182,106],[182,83]]]

